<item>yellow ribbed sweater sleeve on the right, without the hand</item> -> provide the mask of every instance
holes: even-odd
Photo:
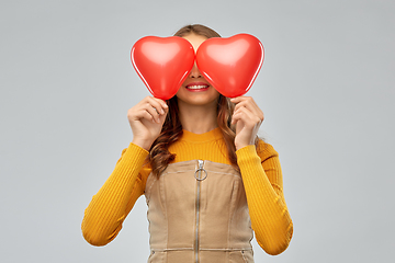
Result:
[[[282,172],[278,152],[260,141],[238,151],[252,229],[259,245],[268,254],[280,254],[289,245],[293,224],[283,194]]]

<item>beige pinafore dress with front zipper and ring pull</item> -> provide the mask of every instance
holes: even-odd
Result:
[[[150,174],[148,263],[252,263],[252,229],[241,175],[232,165],[192,160]]]

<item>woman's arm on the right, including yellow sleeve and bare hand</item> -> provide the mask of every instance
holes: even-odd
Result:
[[[246,190],[252,229],[260,247],[269,254],[283,252],[292,238],[293,225],[282,192],[282,172],[276,151],[255,140],[263,112],[252,98],[238,96],[232,124],[236,125],[235,147]]]

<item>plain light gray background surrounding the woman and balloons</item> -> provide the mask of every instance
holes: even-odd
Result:
[[[257,36],[266,60],[247,95],[266,114],[294,221],[290,248],[256,262],[394,256],[393,1],[1,1],[1,262],[146,262],[145,198],[103,248],[83,209],[132,139],[148,91],[129,50],[202,23]]]

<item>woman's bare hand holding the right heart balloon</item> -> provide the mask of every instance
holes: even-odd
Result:
[[[255,145],[257,134],[264,116],[257,103],[250,96],[237,96],[230,99],[235,103],[235,112],[232,124],[236,124],[236,150],[248,145]]]

